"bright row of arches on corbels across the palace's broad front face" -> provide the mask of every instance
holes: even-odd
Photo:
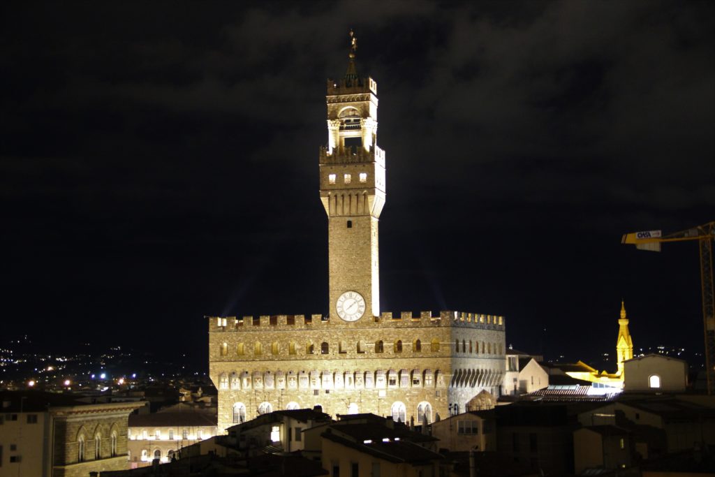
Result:
[[[445,380],[439,370],[377,370],[332,371],[312,370],[255,371],[249,373],[221,373],[219,389],[288,389],[288,390],[332,390],[332,389],[392,389],[392,388],[443,388]]]

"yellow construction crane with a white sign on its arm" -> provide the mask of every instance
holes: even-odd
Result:
[[[623,235],[621,243],[636,245],[640,250],[660,252],[661,243],[697,240],[700,247],[700,282],[703,295],[703,325],[705,332],[705,375],[708,394],[715,393],[715,293],[713,291],[713,240],[715,222],[688,230],[662,235],[660,230],[633,232]]]

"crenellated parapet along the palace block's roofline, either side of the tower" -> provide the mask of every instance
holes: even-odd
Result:
[[[270,330],[307,330],[315,328],[342,328],[345,322],[340,318],[325,315],[260,315],[260,316],[226,316],[208,317],[209,332],[230,331],[261,331]],[[363,318],[367,319],[367,318]],[[413,328],[420,327],[457,327],[477,330],[504,331],[506,320],[500,315],[485,315],[482,313],[465,313],[459,311],[420,311],[418,313],[389,311],[373,317],[371,328]]]

